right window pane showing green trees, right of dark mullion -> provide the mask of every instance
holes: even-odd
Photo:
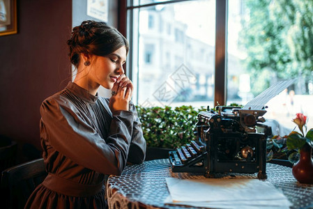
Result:
[[[227,104],[244,105],[276,82],[295,78],[266,104],[264,118],[292,130],[292,118],[303,113],[313,127],[312,8],[313,1],[302,0],[229,1]]]

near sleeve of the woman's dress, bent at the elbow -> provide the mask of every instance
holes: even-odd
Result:
[[[102,139],[91,127],[92,121],[66,100],[45,100],[40,114],[42,139],[72,162],[104,174],[123,171],[132,139],[132,111],[114,114],[107,139]]]

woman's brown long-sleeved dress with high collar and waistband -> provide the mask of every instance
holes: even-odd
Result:
[[[135,105],[109,110],[109,100],[69,82],[40,107],[47,178],[25,208],[107,208],[105,175],[142,163],[146,141]]]

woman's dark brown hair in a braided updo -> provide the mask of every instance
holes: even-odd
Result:
[[[70,62],[78,68],[79,54],[106,56],[125,46],[128,53],[129,45],[126,38],[114,27],[105,22],[86,20],[72,29],[68,40]]]

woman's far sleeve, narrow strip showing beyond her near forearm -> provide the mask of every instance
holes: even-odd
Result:
[[[128,153],[128,162],[139,164],[144,162],[146,157],[146,140],[144,139],[142,123],[139,120],[137,109],[132,102],[130,102],[130,111],[134,114],[134,122],[132,125],[132,141]]]

